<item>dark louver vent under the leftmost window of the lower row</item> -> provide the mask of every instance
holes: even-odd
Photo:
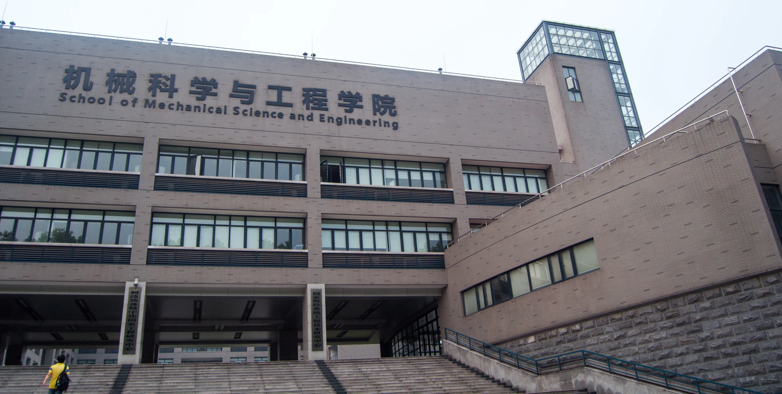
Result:
[[[0,243],[0,261],[30,263],[131,264],[129,247],[58,247]]]

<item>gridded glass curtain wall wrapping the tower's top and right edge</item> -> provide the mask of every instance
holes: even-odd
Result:
[[[622,112],[627,141],[630,145],[635,145],[643,140],[644,132],[638,120],[633,93],[627,83],[622,55],[612,31],[543,21],[518,50],[522,79],[527,80],[550,53],[606,62],[614,83],[616,103]]]

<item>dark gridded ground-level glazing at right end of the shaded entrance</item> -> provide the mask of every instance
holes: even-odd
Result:
[[[442,351],[436,309],[402,328],[391,340],[392,357],[439,356]]]

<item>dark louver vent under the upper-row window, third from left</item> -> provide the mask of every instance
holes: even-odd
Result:
[[[412,203],[454,204],[452,190],[422,190],[372,186],[326,185],[321,183],[321,198],[368,201],[405,201]]]

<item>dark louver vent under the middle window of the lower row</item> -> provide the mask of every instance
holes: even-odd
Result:
[[[307,268],[307,253],[277,250],[148,249],[147,264]]]

